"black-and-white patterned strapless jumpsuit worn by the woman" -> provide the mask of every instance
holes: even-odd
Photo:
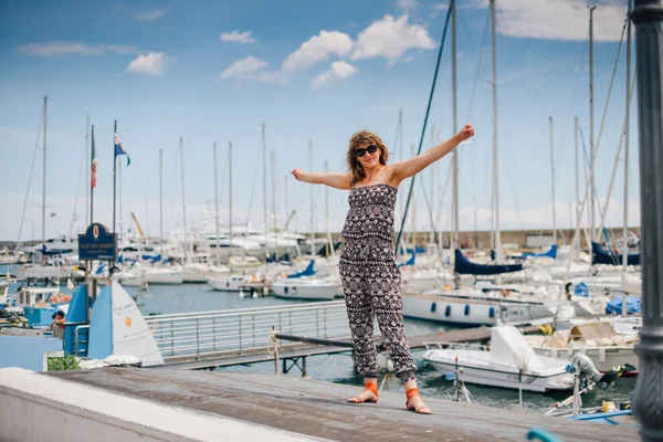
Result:
[[[393,209],[398,190],[373,185],[350,190],[350,209],[343,228],[345,245],[339,272],[357,369],[365,378],[380,371],[373,341],[373,317],[401,382],[414,379],[417,365],[403,330],[401,273],[393,254]]]

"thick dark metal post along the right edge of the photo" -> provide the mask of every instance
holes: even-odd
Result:
[[[633,413],[643,441],[663,441],[663,0],[635,0],[642,329]]]

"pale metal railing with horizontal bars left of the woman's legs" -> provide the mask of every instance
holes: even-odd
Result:
[[[146,317],[167,360],[265,351],[272,332],[316,338],[350,336],[343,301]]]

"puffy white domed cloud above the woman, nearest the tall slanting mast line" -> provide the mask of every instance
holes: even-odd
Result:
[[[386,14],[372,22],[359,34],[352,60],[383,56],[390,60],[400,57],[409,49],[432,49],[434,43],[425,28],[410,24],[408,15],[394,19]]]

